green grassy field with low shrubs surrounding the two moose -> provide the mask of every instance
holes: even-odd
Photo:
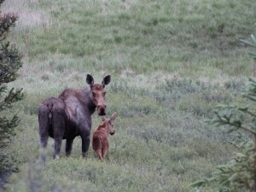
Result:
[[[254,0],[6,0],[3,12],[18,12],[9,39],[23,56],[11,86],[26,93],[15,112],[21,118],[9,146],[20,172],[10,191],[194,191],[230,160],[234,135],[205,123],[218,104],[241,102],[256,65],[239,39],[255,32]],[[73,154],[45,166],[38,160],[38,105],[67,87],[112,76],[106,87],[108,117],[116,112],[108,160],[81,140]],[[95,129],[101,120],[95,114]],[[64,144],[63,144],[64,145]]]

